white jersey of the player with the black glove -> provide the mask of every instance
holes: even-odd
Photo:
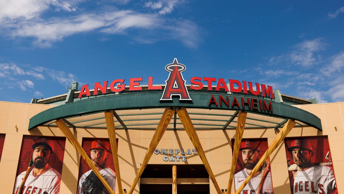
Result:
[[[83,182],[85,180],[85,178],[92,172],[92,170],[87,171],[85,174],[83,174],[80,177],[79,180],[79,186],[78,186],[78,191],[77,194],[83,194]],[[115,191],[115,183],[116,183],[116,173],[109,167],[105,167],[103,169],[101,169],[99,171],[99,173],[104,177],[105,181],[109,184],[109,186],[111,188],[113,188],[113,190]],[[106,188],[104,189],[104,191],[102,191],[99,194],[108,194],[109,192],[106,190]]]

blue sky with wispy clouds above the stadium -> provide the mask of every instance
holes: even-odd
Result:
[[[252,81],[344,101],[343,1],[0,1],[0,100],[29,103],[73,81]],[[206,83],[205,83],[206,84]]]

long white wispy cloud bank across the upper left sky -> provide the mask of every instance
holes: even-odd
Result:
[[[173,40],[181,41],[190,48],[194,48],[200,39],[197,25],[189,20],[173,21],[181,26],[166,28],[169,22],[175,19],[168,19],[163,15],[171,13],[183,1],[150,1],[142,4],[144,8],[149,9],[138,10],[120,10],[108,6],[99,8],[103,11],[97,12],[78,8],[78,3],[82,0],[21,1],[23,2],[0,2],[0,32],[13,39],[30,37],[33,45],[41,48],[51,47],[65,37],[91,31],[130,36],[139,43],[169,40],[170,35],[173,35]],[[117,3],[126,4],[128,1]],[[55,10],[54,17],[43,17],[46,16],[44,13],[51,9]],[[145,13],[149,10],[157,12]],[[137,33],[142,29],[147,32]],[[144,41],[145,39],[147,41]]]

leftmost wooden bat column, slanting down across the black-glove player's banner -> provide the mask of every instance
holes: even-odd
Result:
[[[60,130],[62,131],[62,133],[66,136],[66,138],[68,139],[69,142],[71,142],[71,144],[73,145],[73,147],[76,149],[76,151],[81,155],[81,157],[84,158],[84,160],[86,161],[87,165],[92,169],[92,171],[97,175],[97,177],[99,178],[100,182],[103,183],[103,185],[105,186],[106,190],[111,193],[111,194],[115,194],[115,192],[112,190],[112,188],[110,187],[110,185],[105,181],[104,177],[101,176],[101,174],[99,173],[97,167],[93,164],[93,162],[91,161],[91,159],[88,157],[88,155],[86,154],[86,152],[84,151],[84,149],[81,147],[81,145],[79,144],[78,140],[76,139],[76,137],[72,134],[71,130],[69,130],[68,126],[66,125],[66,123],[63,121],[63,119],[58,119],[56,120],[56,125],[58,126],[58,128],[60,128]]]

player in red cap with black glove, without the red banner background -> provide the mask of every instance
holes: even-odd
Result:
[[[91,146],[88,150],[93,164],[96,166],[99,173],[104,177],[105,181],[109,184],[112,190],[115,191],[116,173],[109,166],[107,166],[107,161],[112,159],[112,155],[110,155],[111,152],[109,150],[109,144],[110,143],[107,140],[95,139],[91,142]],[[89,169],[89,167],[87,169]],[[106,190],[103,183],[100,182],[99,178],[92,171],[92,169],[85,172],[79,178],[77,194],[108,193],[109,192]]]

